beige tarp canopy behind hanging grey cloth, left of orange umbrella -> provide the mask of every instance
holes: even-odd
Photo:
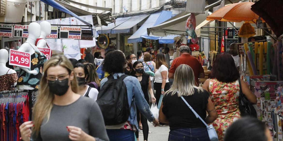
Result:
[[[205,14],[196,14],[196,25],[203,22],[203,20],[206,19],[208,16],[208,10],[210,8],[213,8],[214,6],[217,6],[221,3],[220,1],[217,1],[211,5],[205,6]],[[180,15],[180,16],[179,16]],[[182,16],[183,15],[183,16]],[[172,17],[171,19],[167,20],[164,23],[161,23],[159,25],[147,28],[147,34],[148,35],[155,35],[155,36],[166,36],[170,34],[176,34],[176,35],[182,35],[185,34],[185,25],[186,20],[190,16],[190,13],[181,12],[180,14]]]

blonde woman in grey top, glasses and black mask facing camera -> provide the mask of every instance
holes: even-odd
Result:
[[[53,56],[44,64],[43,74],[33,121],[20,126],[21,139],[108,141],[98,104],[77,94],[71,62],[63,55]]]

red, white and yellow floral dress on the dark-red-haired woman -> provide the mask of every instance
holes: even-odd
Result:
[[[226,129],[238,118],[239,111],[239,81],[232,83],[209,80],[209,94],[215,105],[218,118],[213,122],[219,141],[223,141]]]

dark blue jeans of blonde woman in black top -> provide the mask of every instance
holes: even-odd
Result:
[[[168,141],[209,141],[206,127],[180,128],[169,132]]]

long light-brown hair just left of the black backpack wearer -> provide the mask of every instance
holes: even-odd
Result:
[[[100,81],[98,79],[97,72],[95,70],[95,66],[93,63],[85,63],[85,67],[87,68],[87,72],[89,73],[87,78],[87,83],[95,82],[98,86],[100,86]]]

